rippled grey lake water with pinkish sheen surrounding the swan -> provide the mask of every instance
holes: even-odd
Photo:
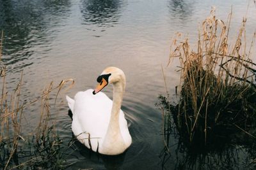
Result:
[[[216,6],[217,17],[224,21],[232,6],[230,34],[236,38],[247,5],[248,1],[242,0],[0,0],[0,29],[4,31],[2,61],[8,69],[8,89],[15,87],[23,70],[25,101],[40,96],[51,81],[58,85],[66,78],[76,81],[67,93],[73,97],[77,91],[94,88],[105,67],[120,67],[127,77],[122,110],[127,114],[133,143],[119,157],[102,157],[79,146],[72,153],[76,157],[67,158],[68,162],[77,162],[70,169],[176,169],[187,163],[188,153],[175,152],[178,139],[172,136],[172,155],[163,158],[161,111],[154,105],[157,96],[166,91],[161,65],[166,71],[170,94],[179,85],[177,63],[165,67],[172,37],[179,31],[196,41],[198,25],[209,15],[211,6]],[[250,1],[248,41],[255,31],[255,13],[255,5]],[[111,87],[104,92],[112,96]],[[63,100],[64,104],[52,108],[52,114],[57,117],[61,138],[68,143],[72,131],[64,97],[61,94],[58,103]],[[39,113],[38,105],[29,106],[25,115],[28,129],[35,128]],[[226,152],[232,155],[236,151]],[[204,163],[216,166],[221,162],[222,167],[234,164],[231,167],[243,168],[247,158],[248,151],[242,147],[237,151],[236,161],[225,162],[220,158]],[[195,159],[191,164],[200,161]]]

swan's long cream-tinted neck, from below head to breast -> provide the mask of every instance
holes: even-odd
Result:
[[[104,138],[103,148],[105,154],[111,155],[112,152],[120,153],[124,151],[125,143],[122,138],[119,124],[119,113],[122,104],[125,84],[122,81],[113,83],[113,106],[111,110],[111,117],[109,120],[108,131]],[[115,146],[113,144],[115,143]]]

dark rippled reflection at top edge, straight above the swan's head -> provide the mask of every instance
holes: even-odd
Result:
[[[81,6],[83,24],[112,27],[118,22],[120,0],[84,0]]]

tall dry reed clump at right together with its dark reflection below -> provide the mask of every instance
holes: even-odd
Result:
[[[167,95],[157,103],[163,114],[163,167],[177,159],[175,169],[255,169],[255,32],[248,43],[244,17],[231,39],[231,18],[232,11],[227,22],[217,19],[213,8],[200,25],[195,50],[182,34],[173,39],[168,66],[180,61],[177,101],[168,94],[164,76]],[[169,146],[170,136],[175,146]]]

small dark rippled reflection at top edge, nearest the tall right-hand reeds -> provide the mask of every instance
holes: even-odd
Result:
[[[191,0],[170,0],[169,8],[173,20],[187,20],[193,13],[193,5]]]

